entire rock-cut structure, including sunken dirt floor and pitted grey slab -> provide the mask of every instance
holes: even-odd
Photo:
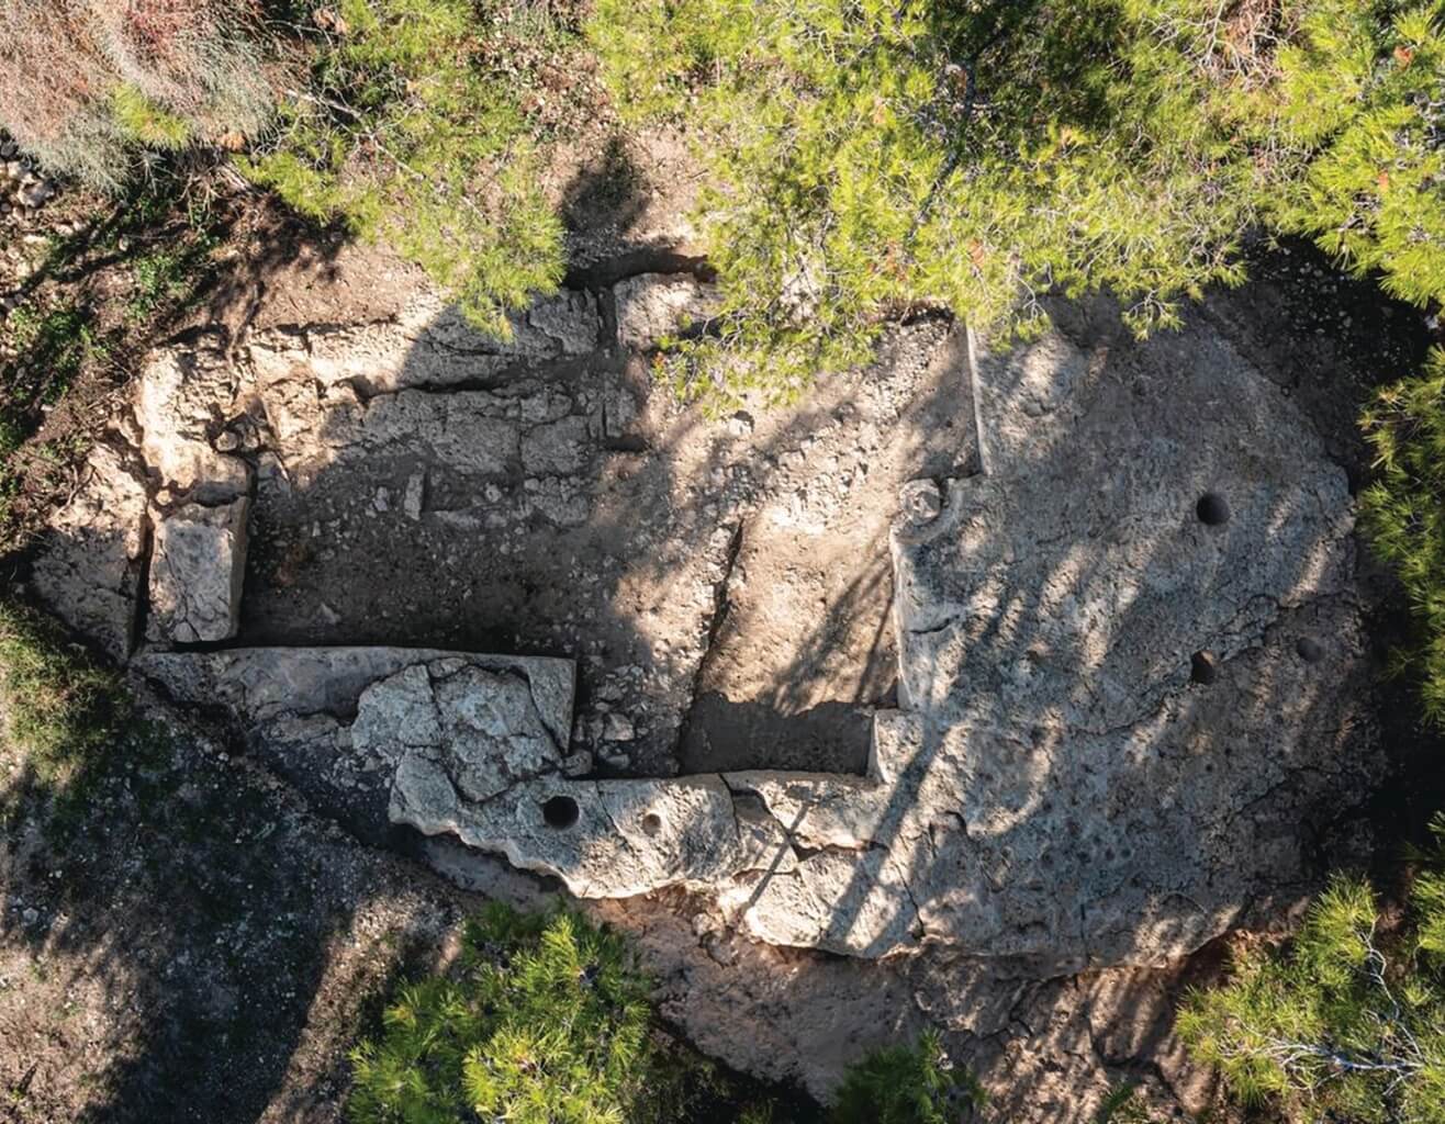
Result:
[[[123,653],[147,503],[163,545],[254,487],[241,646],[139,672],[368,831],[582,897],[685,887],[777,945],[1157,964],[1305,884],[1299,825],[1374,758],[1345,477],[1277,387],[1198,329],[1049,335],[978,373],[968,475],[961,334],[892,337],[795,418],[709,422],[627,357],[707,290],[636,280],[509,342],[423,295],[159,354],[139,454],[97,451],[38,591]],[[234,631],[244,550],[214,553],[178,578],[152,550],[153,640]],[[68,604],[87,568],[104,592]],[[558,657],[470,654],[477,620]]]

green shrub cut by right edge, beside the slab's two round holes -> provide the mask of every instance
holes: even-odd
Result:
[[[1426,717],[1445,722],[1445,350],[1380,392],[1361,420],[1379,472],[1360,496],[1364,529],[1420,623],[1402,663],[1419,667]]]

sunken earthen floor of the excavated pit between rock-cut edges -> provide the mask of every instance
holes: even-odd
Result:
[[[390,338],[282,334],[302,364],[364,358],[289,449],[262,403],[234,643],[574,657],[574,738],[604,774],[861,773],[870,709],[896,678],[893,497],[919,435],[936,433],[938,470],[970,455],[946,328],[906,329],[892,361],[793,418],[707,420],[639,355],[666,325],[634,312],[623,345],[613,296],[695,273],[636,264],[657,263],[565,290],[575,315],[552,354],[499,363],[448,311]],[[263,381],[280,366],[253,361]]]

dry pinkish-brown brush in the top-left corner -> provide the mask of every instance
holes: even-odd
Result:
[[[117,188],[131,147],[111,113],[120,87],[201,142],[264,124],[256,27],[251,3],[0,0],[0,126],[46,168]]]

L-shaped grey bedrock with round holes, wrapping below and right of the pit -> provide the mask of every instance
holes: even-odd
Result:
[[[594,779],[569,660],[155,653],[296,767],[579,897],[669,886],[772,943],[944,945],[1043,974],[1186,955],[1306,883],[1368,780],[1344,471],[1214,337],[1062,337],[984,371],[990,471],[893,526],[900,706],[866,776]],[[309,764],[305,764],[309,763]]]

